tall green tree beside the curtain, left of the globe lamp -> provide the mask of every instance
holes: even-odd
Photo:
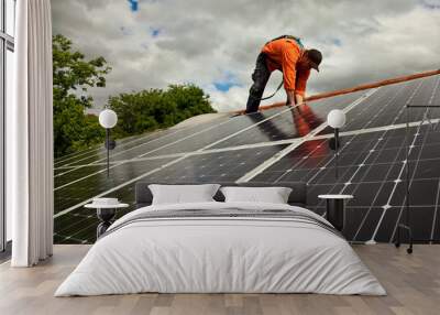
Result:
[[[111,68],[103,57],[87,61],[63,35],[55,35],[52,46],[54,149],[55,156],[61,156],[103,141],[105,130],[99,127],[98,118],[86,116],[85,110],[92,106],[88,88],[105,87],[105,75]]]

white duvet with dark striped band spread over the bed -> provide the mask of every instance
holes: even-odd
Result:
[[[284,219],[179,218],[135,221],[144,211],[289,209],[279,204],[148,206],[117,220],[55,296],[160,293],[323,293],[385,295],[350,245],[322,227]],[[122,225],[122,226],[121,226]]]

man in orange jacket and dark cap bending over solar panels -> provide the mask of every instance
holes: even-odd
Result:
[[[310,69],[319,72],[321,61],[322,54],[317,50],[304,48],[298,37],[283,35],[267,42],[256,58],[255,70],[252,74],[254,83],[249,91],[245,112],[258,110],[264,88],[275,69],[283,72],[286,105],[301,104]]]

